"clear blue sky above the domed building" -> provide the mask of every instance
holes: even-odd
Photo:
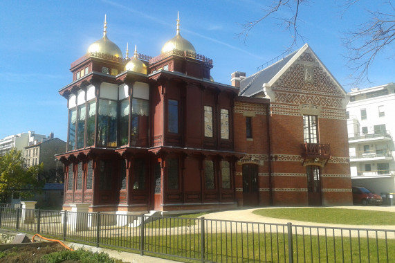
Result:
[[[364,21],[364,8],[377,2],[361,0],[342,14],[342,1],[310,1],[300,11],[298,27],[320,60],[349,90],[352,73],[347,68],[342,33]],[[72,62],[86,53],[89,44],[102,37],[104,14],[107,36],[125,55],[134,45],[138,53],[159,55],[176,33],[177,11],[181,35],[196,53],[213,60],[212,77],[230,84],[230,73],[251,75],[261,64],[280,55],[291,44],[287,30],[268,19],[252,29],[246,43],[237,37],[241,24],[257,19],[270,1],[0,1],[0,138],[33,130],[55,132],[66,140],[66,99],[59,89],[72,81]],[[370,5],[370,6],[367,6]],[[286,11],[275,17],[286,16]],[[304,42],[298,40],[300,48]],[[378,55],[369,71],[372,87],[394,82],[394,46]]]

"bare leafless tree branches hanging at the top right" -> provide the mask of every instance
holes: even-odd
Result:
[[[341,2],[338,1],[338,2]],[[340,5],[341,12],[344,14],[351,8],[351,6],[359,3],[359,0],[342,0]],[[392,0],[379,1],[381,10],[366,10],[369,13],[369,21],[366,21],[356,28],[351,28],[343,39],[343,43],[347,48],[347,57],[350,69],[353,70],[351,77],[353,84],[360,84],[363,80],[369,81],[369,67],[378,55],[383,52],[385,48],[389,48],[395,39],[395,8]],[[303,40],[303,36],[298,32],[298,24],[302,21],[300,19],[301,8],[308,8],[309,1],[307,0],[274,0],[270,6],[264,9],[263,16],[254,21],[247,21],[243,24],[243,30],[239,37],[246,41],[250,30],[262,21],[273,17],[279,11],[291,11],[291,15],[285,18],[277,18],[280,23],[279,26],[289,30],[293,40],[289,44],[288,49],[292,49],[297,44],[297,39]],[[377,5],[378,6],[378,5]],[[389,57],[393,57],[390,54]]]

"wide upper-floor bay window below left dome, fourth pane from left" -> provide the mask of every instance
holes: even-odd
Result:
[[[99,100],[98,145],[117,146],[117,102]]]

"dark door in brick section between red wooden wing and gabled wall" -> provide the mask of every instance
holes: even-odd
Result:
[[[258,165],[243,165],[243,205],[258,205]]]

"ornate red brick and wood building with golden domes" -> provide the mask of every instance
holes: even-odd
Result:
[[[104,23],[59,91],[64,209],[351,203],[345,91],[308,46],[244,80],[235,73],[240,88],[214,82],[212,66],[178,24],[160,55],[124,59]]]

